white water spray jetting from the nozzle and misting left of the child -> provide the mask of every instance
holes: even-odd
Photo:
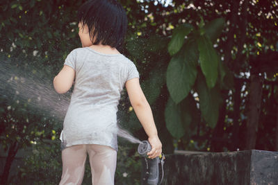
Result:
[[[23,70],[1,61],[1,98],[16,103],[28,102],[34,114],[49,114],[58,121],[63,121],[67,107],[70,105],[70,93],[57,94],[52,84],[53,78],[47,78],[47,71],[30,68]],[[118,127],[117,135],[131,143],[141,143],[121,127]]]

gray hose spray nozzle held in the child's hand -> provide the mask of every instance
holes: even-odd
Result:
[[[158,185],[161,184],[164,176],[163,164],[165,156],[162,154],[154,159],[149,159],[147,153],[152,150],[149,141],[142,141],[138,146],[138,153],[143,157],[142,160],[142,181],[141,184],[145,185]]]

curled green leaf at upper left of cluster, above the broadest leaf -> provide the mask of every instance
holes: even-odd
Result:
[[[190,24],[181,24],[177,28],[174,28],[172,39],[168,45],[168,51],[170,55],[176,54],[183,46],[184,37],[193,30],[193,26]]]

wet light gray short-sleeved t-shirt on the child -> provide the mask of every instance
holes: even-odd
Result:
[[[117,105],[125,82],[139,78],[135,64],[122,54],[85,47],[67,55],[65,65],[74,69],[75,83],[60,133],[61,150],[78,144],[117,150]]]

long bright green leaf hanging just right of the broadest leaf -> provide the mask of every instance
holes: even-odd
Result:
[[[213,48],[211,40],[205,35],[197,38],[199,49],[199,60],[201,63],[201,69],[206,77],[206,84],[208,88],[213,88],[218,78],[218,63],[219,56]]]

